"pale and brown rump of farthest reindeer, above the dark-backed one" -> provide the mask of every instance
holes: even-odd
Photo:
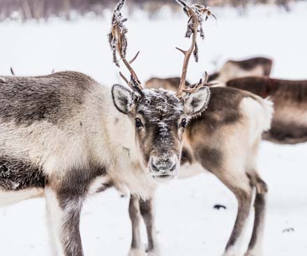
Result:
[[[245,59],[243,61],[227,61],[217,73],[209,75],[209,81],[218,80],[225,84],[237,77],[267,76],[271,74],[273,61],[264,57]]]

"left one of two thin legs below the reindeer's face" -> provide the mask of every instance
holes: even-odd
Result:
[[[129,202],[129,216],[132,224],[132,241],[129,256],[144,256],[145,250],[140,234],[140,204],[137,197],[130,196]]]

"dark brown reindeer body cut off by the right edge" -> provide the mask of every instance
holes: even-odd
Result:
[[[244,77],[226,86],[244,89],[274,102],[271,129],[263,139],[278,144],[307,141],[307,81],[278,80],[269,77]]]

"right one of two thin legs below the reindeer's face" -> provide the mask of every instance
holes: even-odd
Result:
[[[148,238],[148,256],[159,256],[158,239],[156,237],[156,226],[154,219],[153,199],[140,201],[140,211],[146,225]]]

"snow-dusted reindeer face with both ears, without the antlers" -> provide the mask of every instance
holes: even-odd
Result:
[[[142,163],[157,181],[177,175],[184,130],[189,119],[202,113],[209,101],[209,89],[190,94],[185,100],[164,89],[144,89],[144,96],[114,85],[115,107],[127,114],[135,126],[135,143]]]

